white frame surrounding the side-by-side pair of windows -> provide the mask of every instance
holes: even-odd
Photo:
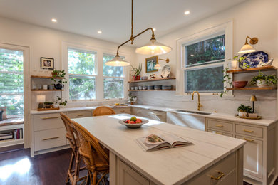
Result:
[[[119,99],[104,99],[104,92],[103,92],[103,53],[108,55],[115,56],[116,51],[108,50],[107,48],[101,48],[101,47],[94,47],[94,46],[85,46],[78,43],[70,43],[67,41],[62,41],[62,68],[65,70],[66,75],[65,78],[69,79],[68,75],[68,48],[80,50],[80,51],[94,51],[96,52],[96,99],[93,100],[70,100],[69,99],[69,82],[65,85],[62,99],[67,100],[69,103],[86,103],[86,102],[115,102],[116,100],[128,100],[128,70],[124,68],[125,73],[125,80],[124,80],[124,97]],[[124,56],[125,60],[130,60],[130,53],[125,53],[123,51],[120,52],[120,56]],[[58,69],[58,67],[57,67]]]

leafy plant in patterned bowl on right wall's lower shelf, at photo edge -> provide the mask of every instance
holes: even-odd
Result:
[[[259,75],[254,76],[251,80],[251,85],[256,84],[259,88],[275,86],[277,85],[276,75],[264,75],[264,73],[259,71]]]

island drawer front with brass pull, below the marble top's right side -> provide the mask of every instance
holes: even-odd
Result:
[[[190,185],[199,185],[199,184],[224,184],[222,181],[224,181],[226,178],[229,179],[229,184],[236,184],[235,181],[235,175],[232,175],[232,171],[235,171],[236,167],[236,157],[235,152],[230,154],[225,159],[222,159],[222,161],[218,162],[217,164],[211,166],[209,169],[206,169],[205,171],[202,171],[200,174],[195,176],[193,179],[188,181],[185,184]],[[219,172],[218,172],[219,171]],[[220,179],[215,180],[212,179],[212,177],[220,177]]]

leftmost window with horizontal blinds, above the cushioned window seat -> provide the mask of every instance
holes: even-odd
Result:
[[[0,107],[7,107],[8,117],[24,115],[23,71],[23,52],[0,48]]]

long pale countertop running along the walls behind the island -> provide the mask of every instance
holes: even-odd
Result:
[[[99,105],[101,106],[101,105]],[[66,107],[66,108],[60,108],[60,110],[51,110],[51,111],[38,111],[38,110],[31,110],[31,115],[40,115],[40,114],[46,114],[46,113],[57,113],[57,112],[71,112],[71,111],[81,111],[81,110],[94,110],[96,107],[99,106],[93,106],[93,107]],[[103,105],[108,106],[111,108],[120,108],[120,107],[138,107],[143,108],[145,110],[157,110],[162,112],[175,112],[177,114],[192,114],[200,117],[207,117],[207,118],[214,118],[214,119],[222,119],[232,122],[244,122],[254,125],[262,125],[262,126],[269,126],[277,122],[278,120],[267,120],[267,119],[261,119],[261,120],[249,120],[249,119],[242,119],[235,117],[235,115],[232,114],[225,114],[220,112],[205,112],[205,111],[197,111],[197,110],[188,110],[193,112],[205,112],[210,113],[210,115],[201,115],[201,114],[194,114],[189,112],[177,112],[177,110],[187,110],[187,109],[179,109],[179,108],[170,108],[170,107],[157,107],[153,105],[127,105],[127,106],[112,106],[112,105]]]

